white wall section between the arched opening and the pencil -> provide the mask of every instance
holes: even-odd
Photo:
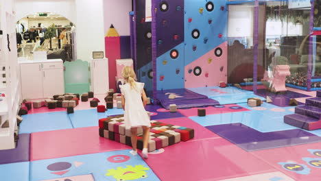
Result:
[[[103,0],[76,0],[77,58],[89,60],[93,51],[105,50]]]

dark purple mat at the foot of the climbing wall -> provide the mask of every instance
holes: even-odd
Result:
[[[169,99],[169,93],[175,94],[175,99]],[[186,88],[177,88],[169,90],[158,90],[157,98],[165,109],[169,109],[170,104],[176,104],[177,108],[193,108],[201,106],[216,106],[218,101],[209,99],[206,95],[194,93]]]

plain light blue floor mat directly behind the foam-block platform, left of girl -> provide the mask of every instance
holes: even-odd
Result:
[[[123,114],[123,109],[108,109],[106,112],[97,112],[97,109],[75,110],[69,114],[73,128],[84,128],[89,126],[98,126],[98,119],[108,117],[109,115]]]

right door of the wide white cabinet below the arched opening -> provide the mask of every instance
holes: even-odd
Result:
[[[43,69],[43,97],[64,94],[64,69]]]

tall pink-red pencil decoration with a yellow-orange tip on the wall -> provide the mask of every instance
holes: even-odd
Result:
[[[121,58],[120,37],[113,25],[110,25],[105,37],[106,58],[108,58],[109,88],[116,90],[116,59]]]

